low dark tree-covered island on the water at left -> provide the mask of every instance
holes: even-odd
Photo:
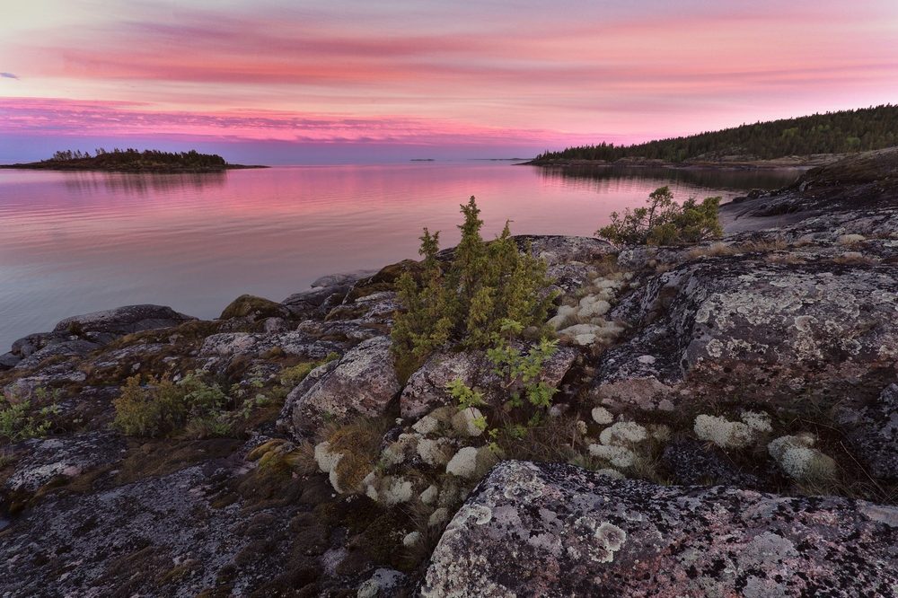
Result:
[[[196,150],[170,153],[118,147],[107,152],[102,147],[94,155],[80,150],[57,152],[48,160],[25,164],[3,165],[0,168],[24,168],[36,171],[121,171],[121,172],[212,172],[268,166],[229,164],[218,154],[199,154]]]

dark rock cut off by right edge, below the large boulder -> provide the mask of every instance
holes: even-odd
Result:
[[[898,481],[898,384],[889,384],[850,431],[855,451],[874,475]]]

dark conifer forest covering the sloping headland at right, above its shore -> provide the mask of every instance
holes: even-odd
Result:
[[[636,145],[584,145],[561,152],[546,151],[536,161],[646,158],[681,163],[686,160],[715,162],[724,155],[748,160],[772,160],[790,155],[866,152],[898,145],[898,106],[827,112],[797,119],[758,122],[649,141]]]

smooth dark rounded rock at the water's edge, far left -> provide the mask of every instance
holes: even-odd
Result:
[[[54,332],[73,334],[106,333],[115,337],[141,330],[171,328],[185,321],[197,320],[163,305],[126,305],[105,312],[86,313],[60,321]]]

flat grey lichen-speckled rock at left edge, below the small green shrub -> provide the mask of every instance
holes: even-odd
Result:
[[[119,435],[92,432],[66,438],[32,439],[20,444],[30,453],[16,463],[5,488],[30,492],[57,476],[74,478],[84,471],[121,461],[128,443]]]

